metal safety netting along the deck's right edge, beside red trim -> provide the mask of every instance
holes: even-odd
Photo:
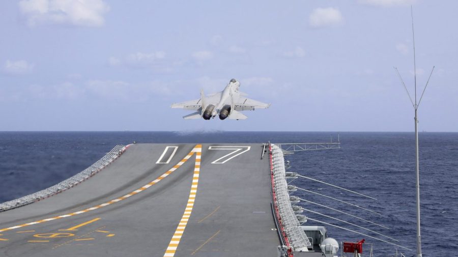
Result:
[[[281,221],[284,230],[295,251],[307,251],[311,247],[305,232],[301,229],[300,223],[294,213],[288,193],[288,183],[285,179],[284,158],[282,150],[272,144],[272,166],[274,176],[274,186],[277,197]]]

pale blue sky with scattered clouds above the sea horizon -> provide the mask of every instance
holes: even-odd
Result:
[[[456,1],[24,0],[0,4],[0,130],[458,131]],[[174,102],[231,78],[245,121]]]

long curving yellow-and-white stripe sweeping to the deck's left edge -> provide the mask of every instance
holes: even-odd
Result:
[[[142,186],[140,188],[138,188],[137,190],[134,190],[124,196],[121,196],[119,198],[116,198],[116,199],[113,199],[111,201],[108,201],[104,204],[101,204],[101,205],[96,205],[94,207],[91,207],[91,208],[88,208],[88,209],[84,209],[84,210],[81,210],[81,211],[77,211],[77,212],[72,212],[72,213],[69,213],[69,214],[64,214],[64,215],[60,215],[60,216],[55,216],[55,217],[51,217],[51,218],[47,218],[47,219],[42,219],[42,220],[37,220],[37,221],[34,221],[34,222],[29,222],[29,223],[24,223],[24,224],[20,224],[20,225],[16,225],[16,226],[11,226],[11,227],[5,227],[5,229],[0,229],[0,232],[4,232],[4,231],[9,231],[9,230],[15,230],[15,229],[19,229],[20,227],[24,227],[24,226],[30,226],[30,225],[34,225],[34,224],[39,224],[39,223],[43,223],[43,222],[47,222],[47,221],[51,221],[51,220],[55,220],[55,219],[61,219],[61,218],[66,218],[66,217],[71,217],[71,216],[74,216],[74,215],[78,215],[78,214],[81,214],[81,213],[86,213],[86,212],[90,212],[90,211],[93,211],[93,210],[96,210],[96,209],[99,209],[99,208],[102,208],[102,207],[105,207],[105,206],[108,206],[110,204],[113,204],[113,203],[117,203],[117,202],[120,202],[126,198],[129,198],[130,196],[136,194],[136,193],[139,193],[141,191],[144,191],[146,190],[147,188],[149,188],[150,186],[152,185],[155,185],[156,183],[158,183],[159,181],[161,181],[162,179],[166,178],[168,175],[170,175],[171,173],[173,173],[177,167],[180,167],[181,165],[183,165],[183,163],[185,163],[189,158],[191,158],[192,155],[194,155],[194,153],[196,153],[195,149],[199,149],[199,151],[202,150],[202,145],[196,145],[194,147],[194,149],[191,150],[191,152],[189,152],[184,158],[183,160],[181,160],[177,165],[175,165],[173,168],[170,168],[169,170],[167,170],[167,172],[165,172],[164,174],[162,174],[161,176],[159,176],[157,179],[151,181],[150,183],[146,184],[145,186]],[[197,156],[196,156],[197,158]],[[198,155],[198,158],[200,160],[201,156]],[[198,170],[198,169],[197,169]],[[195,174],[195,172],[194,172]]]

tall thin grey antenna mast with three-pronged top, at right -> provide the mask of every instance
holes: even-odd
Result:
[[[414,34],[414,25],[413,25],[413,9],[412,6],[410,7],[410,12],[411,12],[411,17],[412,17],[412,40],[413,40],[413,54],[414,54],[414,87],[415,87],[415,102],[412,101],[412,97],[410,96],[409,90],[407,90],[406,84],[404,83],[403,78],[400,76],[399,71],[397,68],[394,68],[397,72],[397,75],[399,76],[400,81],[404,85],[404,88],[406,89],[407,95],[409,96],[409,99],[414,107],[415,110],[415,172],[416,172],[416,184],[415,184],[415,189],[416,189],[416,216],[417,216],[417,257],[422,257],[421,253],[421,235],[420,235],[420,172],[419,172],[419,157],[418,157],[418,106],[420,105],[421,99],[423,98],[424,91],[426,90],[426,87],[428,86],[428,83],[430,82],[431,75],[433,74],[434,71],[434,66],[433,69],[431,70],[430,76],[428,77],[428,80],[426,81],[426,85],[424,86],[423,92],[421,93],[420,100],[417,102],[417,70],[416,70],[416,61],[415,61],[415,34]]]

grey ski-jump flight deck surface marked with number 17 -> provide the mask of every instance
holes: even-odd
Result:
[[[90,180],[0,213],[0,256],[276,256],[261,153],[131,145]]]

